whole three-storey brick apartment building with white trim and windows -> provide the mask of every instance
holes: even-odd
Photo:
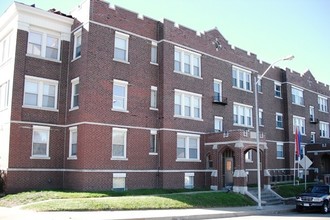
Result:
[[[329,86],[105,1],[65,15],[13,3],[0,20],[5,190],[211,188],[292,181],[295,130],[330,173]]]

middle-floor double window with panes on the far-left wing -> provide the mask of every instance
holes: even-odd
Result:
[[[25,76],[24,107],[57,109],[58,81]]]

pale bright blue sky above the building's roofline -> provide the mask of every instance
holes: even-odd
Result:
[[[83,0],[17,0],[69,13]],[[0,14],[13,3],[0,0]],[[146,17],[204,32],[217,27],[229,44],[330,85],[330,0],[108,0]]]

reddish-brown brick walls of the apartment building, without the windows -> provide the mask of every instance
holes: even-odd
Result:
[[[20,3],[14,3],[13,7],[24,7],[31,13],[36,10]],[[89,11],[88,17],[81,15],[83,10]],[[230,184],[229,177],[226,177],[226,158],[233,158],[230,168],[234,179],[231,184],[246,187],[256,183],[253,85],[254,78],[270,64],[258,60],[253,53],[232,47],[217,29],[196,33],[169,20],[160,22],[141,18],[120,7],[111,8],[105,1],[86,1],[72,13],[76,19],[44,13],[56,22],[65,19],[61,22],[71,31],[61,33],[61,36],[68,34],[70,37],[61,40],[60,59],[54,61],[29,55],[29,29],[17,30],[11,79],[9,154],[4,155],[8,157],[5,169],[8,192],[45,188],[110,190],[117,184],[114,183],[118,181],[116,176],[123,178],[120,181],[124,181],[125,189],[184,188],[187,182],[191,183],[191,178],[195,188],[221,189]],[[73,57],[74,34],[80,29],[81,56],[76,59]],[[52,31],[59,30],[54,28]],[[127,62],[114,60],[116,33],[128,36]],[[157,64],[150,63],[153,42],[157,44]],[[216,42],[221,44],[220,49],[216,49]],[[199,56],[200,76],[174,71],[174,54],[178,48]],[[249,73],[251,88],[248,91],[234,88],[233,67]],[[55,110],[24,106],[26,76],[58,82]],[[72,109],[71,82],[77,77],[79,108]],[[127,83],[127,111],[113,109],[116,101],[113,98],[114,83],[118,80]],[[214,103],[214,80],[221,81],[226,103]],[[281,85],[280,98],[274,95],[275,83]],[[157,109],[150,108],[151,87],[157,87]],[[292,87],[303,91],[304,106],[292,104]],[[175,115],[177,91],[201,97],[200,118]],[[262,92],[258,92],[264,122],[260,126],[263,135],[260,139],[262,177],[267,171],[273,177],[271,182],[280,178],[283,181],[283,176],[285,180],[292,179],[293,116],[305,119],[303,144],[310,143],[311,132],[315,132],[316,144],[329,142],[329,125],[328,137],[320,138],[319,124],[309,120],[309,106],[314,106],[318,121],[330,121],[327,111],[318,110],[320,95],[328,102],[329,86],[317,82],[309,71],[300,75],[274,67],[262,79]],[[195,102],[195,99],[191,100]],[[236,105],[252,109],[251,126],[233,123]],[[276,129],[276,113],[283,115],[283,129]],[[220,133],[214,131],[215,116],[223,118]],[[50,128],[47,159],[31,158],[33,126],[36,125]],[[77,128],[75,157],[70,156],[69,150],[72,127]],[[125,158],[113,158],[114,129],[125,129]],[[156,132],[157,143],[156,152],[152,153],[151,132]],[[178,158],[179,136],[185,134],[199,140],[198,155],[194,159]],[[192,143],[192,139],[185,139],[184,143],[188,140]],[[283,144],[283,158],[277,156],[277,143]],[[325,146],[323,149],[327,155],[329,145]],[[252,150],[252,161],[247,162],[245,155],[249,150]],[[191,156],[194,155],[193,149],[187,152],[189,157],[194,157]],[[330,169],[322,172],[330,172]],[[263,183],[269,184],[268,181]]]

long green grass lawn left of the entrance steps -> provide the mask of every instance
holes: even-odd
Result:
[[[1,198],[0,206],[13,207],[24,205],[22,208],[36,211],[98,211],[211,208],[255,205],[255,202],[250,198],[236,193],[175,193],[176,190],[171,192],[172,193],[168,193],[166,190],[133,190],[131,192],[127,191],[123,193],[59,191],[25,192],[7,195]]]

